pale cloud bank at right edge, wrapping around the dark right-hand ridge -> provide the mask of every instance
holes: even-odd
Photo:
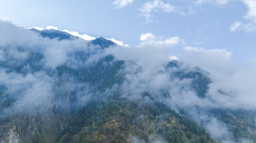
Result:
[[[205,101],[190,99],[184,104],[200,106],[218,106],[220,108],[255,109],[256,68],[245,63],[239,64],[232,60],[232,52],[225,49],[204,49],[186,47],[179,60],[198,66],[210,74],[212,83],[208,85]],[[221,91],[221,92],[220,92]],[[185,95],[184,95],[185,96]],[[192,95],[189,95],[192,96]],[[189,97],[188,97],[189,98]],[[173,97],[177,103],[183,104],[179,97]],[[181,102],[178,102],[180,100]],[[201,104],[202,103],[202,104]],[[206,104],[207,103],[207,104]]]

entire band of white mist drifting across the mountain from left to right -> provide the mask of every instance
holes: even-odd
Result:
[[[185,109],[212,137],[223,142],[232,142],[232,133],[224,122],[207,111],[256,109],[254,65],[236,62],[232,59],[232,52],[225,49],[189,47],[179,37],[160,37],[152,33],[141,35],[138,45],[102,49],[84,39],[60,41],[43,38],[3,21],[0,21],[0,31],[0,92],[12,95],[11,100],[14,100],[8,108],[0,111],[1,117],[32,108],[51,108],[51,102],[64,109],[74,104],[74,108],[82,107],[93,94],[107,94],[110,89],[93,93],[93,85],[79,82],[69,75],[56,75],[56,71],[63,65],[72,69],[91,67],[109,54],[114,60],[125,60],[120,71],[124,80],[120,86],[113,87],[121,88],[121,97],[139,100],[142,93],[148,91],[154,99],[163,101],[176,112],[179,108]],[[181,63],[168,66],[169,62],[177,62],[170,57],[179,58]],[[193,89],[194,78],[198,77],[181,78],[177,76],[180,72],[200,73],[210,80],[203,97]],[[56,86],[59,84],[62,86]],[[62,99],[62,96],[66,98]]]

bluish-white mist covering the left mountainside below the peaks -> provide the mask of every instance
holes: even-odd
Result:
[[[99,46],[84,39],[43,38],[34,31],[4,21],[0,21],[0,31],[0,92],[2,96],[7,94],[10,99],[6,100],[12,102],[0,111],[1,117],[34,109],[38,112],[40,108],[52,108],[52,104],[62,108],[69,104],[86,104],[92,87],[62,75],[61,79],[66,78],[66,81],[60,88],[56,85],[63,81],[56,71],[62,65],[73,69],[93,66],[104,56],[99,54],[102,51]],[[77,53],[84,56],[77,56]],[[75,91],[77,89],[79,91]],[[68,103],[71,100],[68,95],[72,92],[76,93],[79,102]],[[60,95],[67,99],[58,98]]]

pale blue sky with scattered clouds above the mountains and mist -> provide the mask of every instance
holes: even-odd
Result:
[[[256,0],[2,0],[0,18],[129,45],[146,33],[158,41],[179,37],[176,56],[185,47],[226,49],[236,60],[256,55]]]

